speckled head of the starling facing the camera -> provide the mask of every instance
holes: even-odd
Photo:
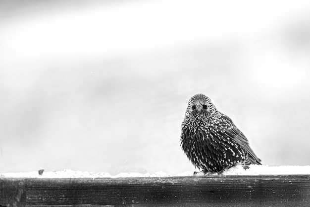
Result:
[[[215,106],[211,100],[202,93],[196,94],[188,101],[185,116],[197,114],[206,114],[207,116],[217,113]]]

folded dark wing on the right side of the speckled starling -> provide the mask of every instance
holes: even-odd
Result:
[[[228,116],[224,114],[221,114],[221,116],[221,120],[225,122],[225,124],[223,124],[225,126],[224,129],[226,134],[229,135],[231,138],[234,138],[234,140],[241,146],[243,146],[246,152],[248,152],[248,157],[250,159],[248,162],[250,162],[251,164],[261,164],[261,160],[256,156],[254,151],[249,146],[249,141],[246,136],[234,125],[234,123]]]

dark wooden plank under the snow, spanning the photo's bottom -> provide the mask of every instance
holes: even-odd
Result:
[[[310,175],[1,178],[0,205],[306,207]]]

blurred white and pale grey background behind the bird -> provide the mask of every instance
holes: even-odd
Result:
[[[310,1],[0,1],[0,172],[195,170],[196,93],[263,164],[310,165]]]

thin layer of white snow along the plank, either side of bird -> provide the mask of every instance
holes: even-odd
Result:
[[[87,171],[49,171],[39,175],[38,171],[20,172],[20,173],[0,173],[0,178],[124,178],[124,177],[175,177],[175,176],[193,176],[193,171],[186,171],[180,174],[170,175],[162,171],[154,174],[146,173],[119,173],[110,175],[109,173],[93,173]],[[222,175],[293,175],[310,174],[310,166],[268,166],[251,165],[245,170],[242,166],[232,167],[225,170]]]

